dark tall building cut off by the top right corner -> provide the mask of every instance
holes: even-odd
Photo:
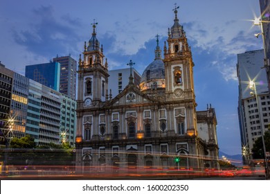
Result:
[[[267,71],[267,82],[270,94],[270,1],[260,0],[260,11],[262,20],[262,36],[264,46],[264,67]]]

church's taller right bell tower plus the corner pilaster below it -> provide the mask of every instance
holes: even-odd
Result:
[[[166,101],[174,101],[186,109],[187,134],[196,135],[196,102],[193,84],[192,53],[188,46],[188,39],[179,24],[175,6],[174,24],[168,28],[168,48],[164,45],[164,66],[165,66],[165,98]]]

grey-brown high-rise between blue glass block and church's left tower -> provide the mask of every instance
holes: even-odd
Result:
[[[71,58],[71,55],[57,56],[53,61],[60,62],[60,92],[75,99],[77,61]]]

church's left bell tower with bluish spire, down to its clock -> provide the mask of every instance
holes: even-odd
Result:
[[[96,23],[93,22],[91,39],[84,42],[83,60],[80,55],[78,70],[78,100],[82,107],[92,107],[104,102],[108,88],[108,64],[104,61],[103,48],[96,38]]]

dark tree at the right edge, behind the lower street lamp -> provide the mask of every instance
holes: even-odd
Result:
[[[264,132],[264,145],[266,152],[270,151],[270,125],[268,126],[268,130]],[[253,159],[263,159],[264,158],[264,150],[262,145],[262,137],[260,136],[253,143],[252,148]]]

